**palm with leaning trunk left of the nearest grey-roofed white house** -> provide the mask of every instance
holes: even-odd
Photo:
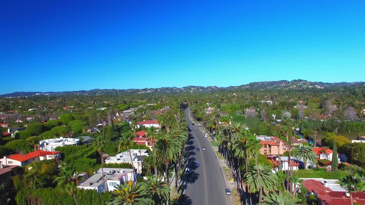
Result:
[[[81,180],[82,177],[77,177],[76,181]],[[73,195],[73,199],[75,200],[76,205],[78,205],[78,201],[76,198],[76,190],[77,183],[74,180],[74,168],[70,166],[64,166],[61,168],[61,172],[59,173],[59,177],[54,179],[54,182],[57,183],[57,186],[60,190]]]

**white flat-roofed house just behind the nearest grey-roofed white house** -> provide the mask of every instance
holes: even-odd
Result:
[[[129,154],[131,154],[131,156]],[[127,150],[115,156],[108,157],[105,159],[105,163],[133,163],[137,172],[142,173],[143,159],[149,155],[150,153],[148,153],[147,150],[141,150],[141,152],[139,152],[139,150]],[[132,161],[130,157],[132,157]]]

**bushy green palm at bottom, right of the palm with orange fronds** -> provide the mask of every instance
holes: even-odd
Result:
[[[150,176],[139,183],[142,193],[152,197],[154,204],[163,205],[170,201],[170,187],[162,181],[162,176]]]

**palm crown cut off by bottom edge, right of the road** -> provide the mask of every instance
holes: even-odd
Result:
[[[273,192],[264,196],[264,201],[260,205],[295,205],[299,199],[292,198],[289,192]]]

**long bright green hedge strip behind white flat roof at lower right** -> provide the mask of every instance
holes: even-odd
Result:
[[[299,178],[324,178],[324,179],[342,179],[347,174],[348,171],[338,170],[337,172],[330,172],[326,170],[313,170],[313,169],[301,169],[295,170],[294,175]]]

